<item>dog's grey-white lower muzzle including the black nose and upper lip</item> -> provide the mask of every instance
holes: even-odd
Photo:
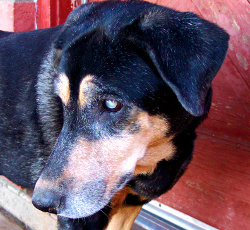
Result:
[[[63,181],[51,188],[42,187],[42,183],[38,181],[39,186],[35,187],[32,203],[41,211],[63,217],[73,219],[87,217],[109,204],[113,195],[130,179],[130,174],[124,175],[109,192],[107,192],[107,181],[104,179],[86,182],[83,185],[74,184],[73,187],[71,181]]]

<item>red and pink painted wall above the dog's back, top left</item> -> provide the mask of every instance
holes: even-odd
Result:
[[[60,25],[81,0],[37,0],[0,2],[0,29],[24,32]]]

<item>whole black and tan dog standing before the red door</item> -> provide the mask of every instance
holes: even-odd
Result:
[[[228,35],[147,2],[0,32],[0,173],[61,229],[130,229],[192,158]],[[74,220],[76,219],[76,220]]]

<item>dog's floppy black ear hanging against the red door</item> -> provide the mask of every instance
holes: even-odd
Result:
[[[189,12],[156,6],[141,13],[125,31],[193,116],[204,112],[211,81],[228,49],[228,34]]]

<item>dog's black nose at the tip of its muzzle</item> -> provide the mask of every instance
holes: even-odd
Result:
[[[56,208],[60,205],[60,197],[53,191],[35,191],[32,203],[43,212],[56,213]]]

